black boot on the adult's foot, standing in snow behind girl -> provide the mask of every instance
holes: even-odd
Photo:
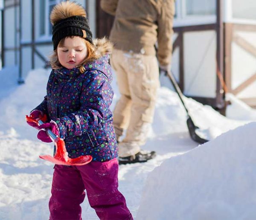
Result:
[[[147,162],[149,159],[152,159],[156,156],[155,151],[143,151],[141,150],[139,153],[136,153],[132,156],[119,156],[119,164],[128,164],[128,163],[142,163]]]

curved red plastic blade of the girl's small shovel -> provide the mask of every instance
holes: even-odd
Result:
[[[41,159],[45,159],[48,160],[49,162],[52,162],[54,164],[58,164],[58,165],[76,165],[76,166],[81,166],[81,165],[85,165],[87,163],[90,163],[93,159],[92,156],[90,155],[86,155],[86,156],[79,156],[77,158],[69,158],[67,160],[61,159],[61,158],[57,158],[57,157],[53,157],[50,155],[41,155],[39,156]]]

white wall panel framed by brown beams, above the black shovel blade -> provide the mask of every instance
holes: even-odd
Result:
[[[184,93],[216,97],[216,33],[184,33]]]

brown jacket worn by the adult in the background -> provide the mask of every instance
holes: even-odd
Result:
[[[172,57],[174,0],[101,0],[101,8],[114,15],[110,40],[116,49],[155,55],[168,65]]]

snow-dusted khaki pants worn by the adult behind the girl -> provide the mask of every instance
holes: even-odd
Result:
[[[153,122],[157,89],[160,86],[157,58],[114,49],[111,66],[116,72],[121,97],[113,111],[116,138],[127,130],[119,142],[119,156],[131,156],[140,151]]]

